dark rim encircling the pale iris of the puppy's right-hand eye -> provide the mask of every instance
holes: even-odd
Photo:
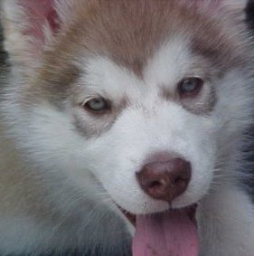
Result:
[[[193,90],[187,91],[183,89],[183,84],[185,81],[195,81],[197,83],[196,87]],[[183,78],[177,85],[177,90],[181,98],[192,98],[197,96],[202,90],[204,81],[201,77],[193,76]]]

